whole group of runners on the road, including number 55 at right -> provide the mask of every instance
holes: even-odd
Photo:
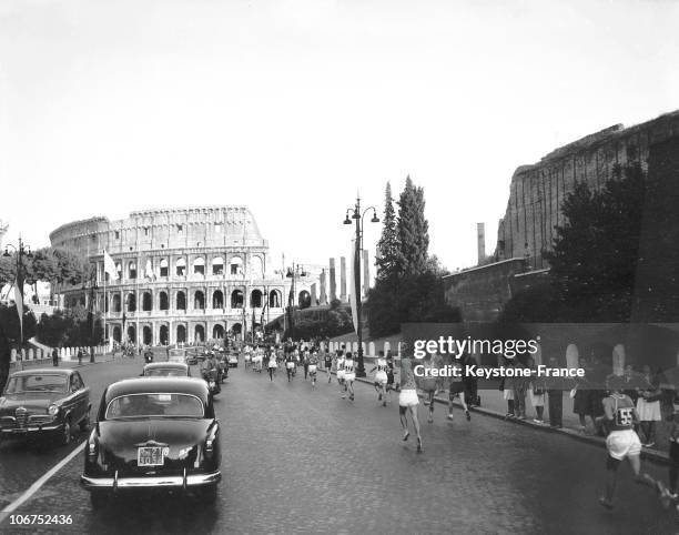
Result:
[[[342,346],[332,353],[323,353],[316,346],[304,344],[287,344],[284,346],[255,346],[244,350],[245,367],[255,372],[268,371],[270,381],[274,381],[276,370],[284,365],[287,381],[291,382],[296,375],[298,367],[304,370],[304,380],[311,378],[312,388],[316,387],[316,375],[318,366],[323,363],[327,372],[327,384],[332,384],[333,374],[340,386],[342,398],[355,400],[354,383],[356,381],[356,360],[351,352],[346,352]],[[423,452],[422,427],[418,418],[419,395],[417,390],[424,392],[424,404],[428,406],[429,423],[434,418],[434,396],[444,392],[443,380],[435,377],[416,377],[413,371],[411,357],[402,356],[399,365],[401,381],[396,383],[396,369],[394,357],[391,352],[385,355],[379,352],[374,366],[368,371],[373,374],[373,384],[377,393],[377,402],[382,406],[387,406],[392,402],[392,393],[398,393],[398,412],[403,431],[403,441],[407,441],[411,431],[415,433],[417,451]],[[453,366],[463,366],[465,359],[455,359]],[[440,367],[446,363],[440,355],[427,355],[424,361],[418,361],[427,367]],[[472,420],[469,413],[469,402],[478,403],[475,381],[470,381],[459,374],[459,377],[452,377],[448,381],[448,421],[454,421],[454,406],[459,402],[467,422]],[[673,504],[679,512],[679,489],[677,480],[679,478],[679,416],[676,417],[671,432],[672,443],[672,465],[670,467],[670,486],[666,487],[661,481],[655,480],[649,474],[641,471],[641,442],[635,431],[635,425],[639,421],[637,410],[631,398],[624,393],[624,380],[610,376],[607,380],[608,395],[604,398],[604,415],[599,416],[598,423],[606,426],[608,435],[606,438],[607,461],[606,461],[606,485],[605,491],[599,497],[599,503],[606,508],[614,507],[614,497],[618,480],[618,468],[622,461],[627,460],[632,470],[635,481],[643,486],[652,487],[659,495],[662,504],[669,506]],[[679,415],[679,413],[677,413]],[[675,457],[677,457],[675,462]]]

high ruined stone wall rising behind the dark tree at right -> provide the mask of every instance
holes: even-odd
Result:
[[[564,224],[561,203],[578,182],[600,189],[616,164],[640,161],[649,149],[679,134],[679,111],[631,128],[621,124],[561,147],[511,176],[509,200],[499,222],[496,259],[529,256],[535,269],[548,268],[541,251],[551,249],[554,228]]]

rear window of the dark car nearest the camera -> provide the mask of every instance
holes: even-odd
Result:
[[[107,406],[107,420],[188,417],[202,418],[203,403],[189,394],[129,394],[115,397]]]

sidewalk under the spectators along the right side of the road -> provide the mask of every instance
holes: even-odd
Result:
[[[367,363],[366,363],[366,367],[367,367]],[[322,369],[322,371],[325,371],[325,370]],[[334,374],[335,372],[332,372],[332,373]],[[369,385],[373,384],[373,381],[369,377],[357,377],[356,381],[361,383],[369,384]],[[478,393],[482,397],[482,406],[480,407],[469,407],[469,411],[473,413],[483,414],[485,416],[490,416],[490,417],[504,421],[505,414],[507,413],[507,402],[503,398],[501,392],[493,391],[493,390],[480,390]],[[420,397],[423,396],[422,394],[419,395]],[[447,406],[448,405],[447,391],[445,393],[436,395],[434,397],[434,401],[435,403],[442,403]],[[455,406],[460,407],[462,405],[459,404],[459,402],[455,402]],[[529,396],[526,396],[526,414],[529,415],[527,420],[511,418],[511,420],[507,420],[507,422],[510,422],[517,425],[525,425],[528,427],[533,427],[534,430],[538,430],[545,433],[559,433],[559,434],[569,436],[570,438],[575,438],[576,441],[579,441],[579,442],[594,444],[599,447],[606,447],[606,440],[604,437],[587,435],[579,431],[580,423],[578,421],[578,416],[572,414],[572,400],[570,398],[568,392],[564,392],[564,414],[563,414],[564,427],[556,428],[556,427],[550,427],[549,425],[540,425],[540,424],[533,422],[533,417],[535,416],[535,410],[530,405]],[[546,422],[549,422],[549,413],[548,413],[547,406],[545,406],[544,417]],[[662,424],[663,422],[658,422],[658,423]],[[658,425],[657,427],[658,427],[657,430],[658,440],[662,441],[665,438],[665,442],[667,442],[666,433],[662,433],[662,430],[663,430],[662,425]],[[670,464],[669,455],[667,454],[667,452],[655,450],[655,448],[643,447],[641,451],[641,458],[657,463],[657,464],[662,464],[662,465]]]

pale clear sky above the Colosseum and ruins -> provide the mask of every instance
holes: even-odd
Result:
[[[669,0],[3,0],[4,241],[244,204],[272,258],[323,264],[357,191],[382,214],[411,175],[429,253],[470,266],[518,165],[679,109],[677,28]]]

